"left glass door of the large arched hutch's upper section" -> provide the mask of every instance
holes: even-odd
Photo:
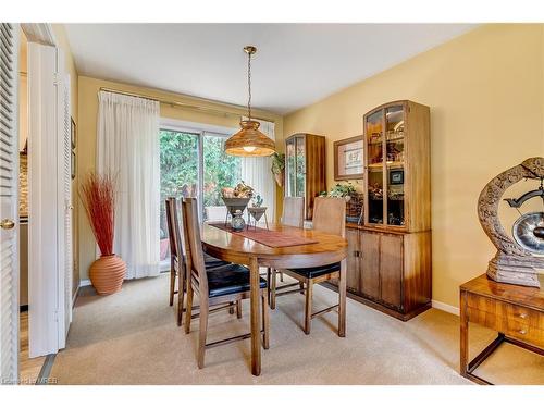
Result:
[[[384,112],[380,110],[367,118],[364,133],[367,135],[367,191],[368,222],[383,224],[383,124]]]

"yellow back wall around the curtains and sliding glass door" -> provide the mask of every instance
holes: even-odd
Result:
[[[78,146],[77,174],[78,176],[87,174],[95,170],[96,154],[96,135],[97,135],[97,115],[98,115],[98,91],[100,87],[113,88],[135,94],[145,94],[147,96],[175,100],[191,104],[199,104],[207,108],[213,108],[234,114],[218,115],[191,110],[184,110],[169,104],[161,103],[161,116],[188,122],[198,122],[217,126],[238,127],[239,115],[246,113],[245,109],[225,103],[215,103],[202,99],[190,98],[177,94],[159,91],[156,89],[141,88],[134,85],[113,83],[87,76],[79,76],[78,96],[79,96],[79,126],[78,126]],[[283,119],[279,115],[256,110],[254,114],[275,122],[275,133],[279,136],[280,145],[283,134]],[[78,200],[79,207],[79,275],[87,279],[88,268],[95,260],[95,238],[87,221],[85,211]]]

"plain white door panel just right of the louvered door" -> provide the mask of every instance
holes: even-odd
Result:
[[[62,51],[28,44],[29,356],[64,348],[71,322],[70,92]]]

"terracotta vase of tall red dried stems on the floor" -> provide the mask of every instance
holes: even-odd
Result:
[[[89,173],[82,183],[79,197],[101,254],[89,268],[90,282],[99,295],[114,294],[121,290],[126,274],[125,262],[113,254],[114,178],[111,174]]]

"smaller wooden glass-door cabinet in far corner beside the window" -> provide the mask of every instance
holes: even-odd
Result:
[[[325,137],[299,133],[285,140],[285,196],[304,197],[305,219],[312,219],[313,199],[325,185]]]

